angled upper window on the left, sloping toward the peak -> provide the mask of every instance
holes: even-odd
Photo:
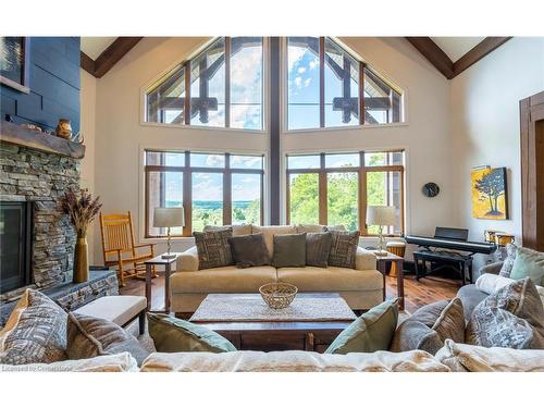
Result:
[[[261,37],[218,38],[147,91],[146,121],[262,129],[262,76]]]

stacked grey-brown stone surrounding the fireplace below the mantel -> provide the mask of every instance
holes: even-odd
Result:
[[[79,160],[0,144],[0,200],[32,201],[33,274],[38,287],[72,280],[75,233],[59,198],[79,187]]]

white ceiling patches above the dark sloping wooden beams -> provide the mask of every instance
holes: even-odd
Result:
[[[82,51],[96,60],[118,37],[82,37]],[[431,37],[453,62],[470,51],[485,37]]]

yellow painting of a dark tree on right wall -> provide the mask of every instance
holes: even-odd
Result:
[[[508,220],[506,168],[472,169],[470,172],[472,217],[484,220]]]

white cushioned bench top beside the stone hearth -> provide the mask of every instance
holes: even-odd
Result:
[[[147,300],[144,296],[103,296],[81,307],[75,312],[124,325],[145,310],[146,306]]]

